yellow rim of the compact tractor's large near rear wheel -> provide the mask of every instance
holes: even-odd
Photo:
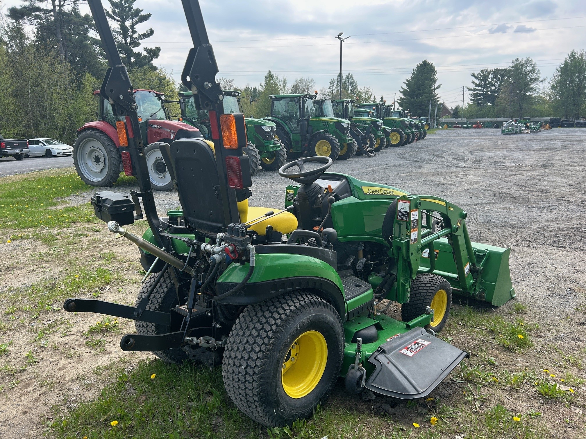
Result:
[[[283,359],[281,383],[288,396],[309,395],[322,379],[328,362],[328,344],[318,331],[307,331],[293,342]]]

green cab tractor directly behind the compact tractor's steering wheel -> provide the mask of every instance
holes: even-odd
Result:
[[[310,156],[338,159],[340,150],[349,158],[356,149],[345,119],[319,116],[315,94],[271,95],[271,114],[265,120],[277,124],[277,138],[285,145],[289,159]]]

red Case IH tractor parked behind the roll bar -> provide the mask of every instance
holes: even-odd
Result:
[[[124,121],[124,118],[114,116],[110,101],[100,94],[100,90],[94,91],[94,95],[100,98],[99,120],[88,122],[77,130],[77,139],[73,145],[73,163],[81,180],[90,186],[112,186],[122,170],[128,176],[136,175],[136,172],[132,169],[128,152],[125,152],[128,146],[125,135],[121,138],[117,130],[116,122]],[[172,190],[173,180],[161,156],[160,143],[202,138],[202,133],[180,120],[172,121],[163,104],[175,101],[165,100],[162,93],[134,90],[134,95],[142,138],[147,139],[144,154],[152,188],[159,191]]]

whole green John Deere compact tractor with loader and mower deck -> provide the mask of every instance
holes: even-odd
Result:
[[[468,356],[435,337],[452,294],[494,306],[514,297],[510,249],[471,242],[466,212],[447,200],[327,172],[327,156],[281,167],[292,180],[284,210],[249,206],[244,116],[224,114],[196,0],[182,0],[194,44],[182,81],[209,112],[213,143],[161,149],[181,209],[159,218],[132,86],[101,2],[88,4],[111,66],[102,90],[124,117],[141,191],[134,201],[98,192],[92,204],[115,238],[141,249],[148,276],[135,306],[67,299],[64,309],[135,320],[124,351],[221,365],[234,404],[266,426],[311,416],[340,376],[350,393],[429,395]],[[142,237],[124,227],[141,217]],[[383,300],[401,304],[401,320]]]

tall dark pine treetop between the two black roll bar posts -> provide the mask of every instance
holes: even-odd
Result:
[[[118,50],[122,61],[130,68],[155,67],[152,61],[159,57],[161,47],[144,47],[144,52],[134,49],[141,45],[141,41],[151,37],[155,31],[152,28],[139,33],[137,26],[151,18],[150,13],[142,13],[142,9],[134,8],[136,0],[109,0],[111,10],[105,11],[107,17],[118,23],[118,29],[113,29]]]

